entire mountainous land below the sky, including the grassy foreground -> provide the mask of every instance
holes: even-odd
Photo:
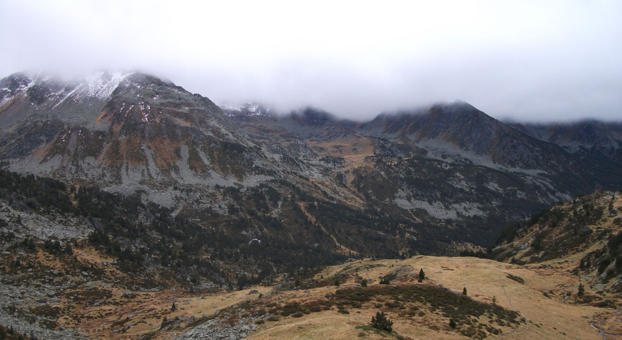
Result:
[[[0,324],[45,339],[594,336],[619,305],[620,197],[601,192],[622,187],[616,131],[505,124],[460,101],[353,122],[220,108],[142,73],[16,73],[0,80]],[[376,310],[394,333],[368,326]]]

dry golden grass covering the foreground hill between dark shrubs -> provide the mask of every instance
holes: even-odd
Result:
[[[590,326],[590,321],[584,315],[597,316],[603,321],[601,327],[617,326],[618,317],[612,317],[614,310],[595,308],[585,305],[572,305],[564,302],[562,296],[551,293],[551,298],[542,294],[542,290],[559,290],[559,287],[572,287],[577,284],[577,278],[569,275],[564,270],[523,269],[518,265],[505,264],[494,260],[482,260],[475,257],[432,257],[417,256],[406,260],[376,260],[369,259],[348,262],[343,265],[327,267],[315,275],[319,279],[332,277],[333,275],[346,272],[350,273],[350,279],[342,282],[340,287],[327,286],[309,290],[285,291],[270,295],[271,287],[253,287],[258,289],[266,297],[261,299],[262,304],[275,301],[281,305],[291,302],[305,303],[308,301],[326,299],[328,293],[335,293],[338,288],[356,287],[361,278],[373,280],[374,286],[379,277],[387,275],[402,265],[411,265],[413,272],[397,277],[392,283],[397,285],[413,285],[416,283],[416,274],[423,268],[427,280],[424,285],[443,285],[456,292],[462,292],[466,287],[468,295],[476,301],[491,303],[493,296],[499,306],[508,310],[518,311],[526,318],[526,323],[521,323],[514,328],[503,328],[503,334],[488,338],[504,339],[602,339],[598,331]],[[357,270],[358,269],[358,270]],[[515,275],[524,280],[524,284],[508,278],[508,274]],[[356,278],[359,275],[359,278]],[[568,284],[568,286],[565,286]],[[246,295],[248,290],[240,292],[222,292],[215,294],[188,295],[185,290],[166,291],[159,293],[147,293],[147,300],[132,301],[118,310],[113,315],[93,321],[93,326],[88,327],[88,333],[94,338],[110,339],[136,339],[138,335],[152,331],[152,327],[159,326],[161,318],[151,316],[145,319],[146,323],[132,326],[128,333],[113,334],[109,325],[118,319],[123,319],[131,313],[140,313],[155,308],[152,315],[164,314],[168,318],[174,316],[201,316],[211,315],[216,310],[222,310],[227,306],[238,304],[248,298],[257,298],[257,295]],[[139,300],[135,298],[134,300]],[[172,301],[178,306],[177,311],[167,311]],[[109,307],[107,307],[109,308]],[[183,310],[181,309],[183,308]],[[251,339],[393,339],[389,334],[376,334],[373,331],[356,329],[356,326],[369,324],[371,316],[375,315],[373,301],[364,303],[361,308],[350,309],[350,314],[337,313],[335,305],[330,310],[318,313],[310,313],[300,318],[292,316],[281,317],[279,321],[267,321],[258,326],[257,332],[251,332]],[[91,312],[92,313],[92,312]],[[148,313],[147,313],[148,315]],[[388,318],[394,322],[394,331],[404,339],[461,339],[462,334],[448,327],[447,318],[437,313],[427,313],[425,316],[399,316],[397,311],[388,311]],[[483,318],[483,317],[482,317]],[[137,319],[132,318],[132,322]],[[488,320],[480,319],[480,322]],[[154,339],[170,339],[184,329],[173,332],[160,332]],[[564,334],[565,333],[565,334]]]

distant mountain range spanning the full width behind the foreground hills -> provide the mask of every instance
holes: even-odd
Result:
[[[456,254],[551,203],[622,188],[622,123],[504,124],[460,101],[353,122],[218,107],[141,73],[16,73],[0,80],[0,158],[321,264]]]

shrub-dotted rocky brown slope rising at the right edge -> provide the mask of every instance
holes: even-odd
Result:
[[[534,214],[505,229],[491,255],[525,265],[564,264],[585,285],[586,303],[615,306],[622,293],[620,194],[594,193]]]

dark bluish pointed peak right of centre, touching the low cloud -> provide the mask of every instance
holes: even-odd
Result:
[[[509,168],[560,170],[572,163],[560,148],[521,134],[463,102],[437,104],[421,113],[383,114],[364,124],[363,129],[375,136],[448,153],[455,153],[457,147],[469,159]]]

